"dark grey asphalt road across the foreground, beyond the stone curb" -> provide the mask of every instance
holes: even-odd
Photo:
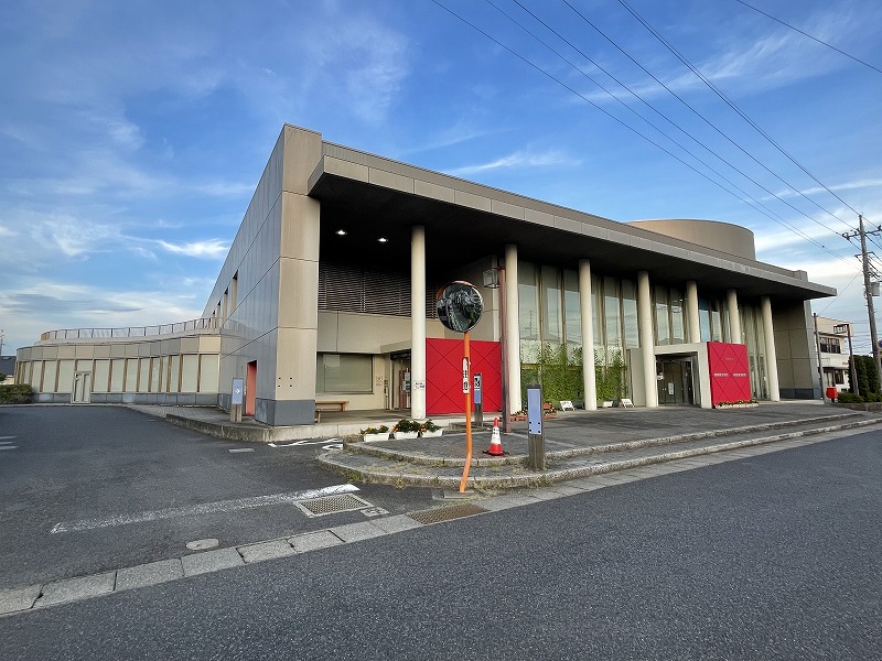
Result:
[[[2,659],[880,659],[882,435],[0,618]]]

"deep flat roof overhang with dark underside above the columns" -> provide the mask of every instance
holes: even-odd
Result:
[[[568,209],[323,143],[310,176],[310,196],[322,203],[321,249],[346,263],[383,261],[409,268],[413,226],[426,228],[427,271],[445,274],[515,243],[518,258],[577,268],[590,259],[594,272],[635,279],[648,271],[655,283],[702,291],[734,288],[740,296],[809,300],[836,290],[790,271],[722,250],[667,237],[591,214]],[[335,232],[346,231],[345,236]],[[379,237],[387,239],[378,243]]]

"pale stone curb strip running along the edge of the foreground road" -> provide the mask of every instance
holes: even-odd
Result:
[[[615,486],[625,481],[633,481],[636,479],[645,479],[658,475],[665,475],[673,470],[653,467],[654,464],[663,462],[671,462],[676,459],[686,459],[700,455],[716,454],[724,451],[733,451],[738,448],[745,448],[756,445],[764,445],[775,441],[795,440],[802,436],[821,434],[827,432],[835,432],[846,429],[853,429],[859,426],[867,426],[870,424],[882,423],[882,420],[862,420],[843,425],[831,425],[822,429],[815,429],[809,431],[797,431],[775,436],[767,436],[761,438],[747,438],[744,441],[736,441],[724,445],[708,446],[701,448],[691,448],[678,453],[666,453],[655,457],[643,457],[637,459],[625,459],[621,462],[613,462],[605,465],[595,465],[590,467],[580,467],[576,469],[564,469],[556,472],[559,479],[571,480],[567,485],[556,485],[544,489],[537,495],[531,494],[505,494],[502,496],[482,498],[470,498],[461,500],[467,502],[470,500],[477,500],[480,509],[483,512],[476,512],[467,516],[476,516],[477,513],[490,513],[509,509],[513,507],[520,507],[525,505],[534,505],[582,494],[595,489]],[[793,447],[793,446],[788,446]],[[782,447],[781,449],[787,449]],[[695,466],[687,466],[676,468],[676,470],[687,470]],[[624,472],[626,469],[638,468],[633,470],[637,475],[622,474],[621,479],[614,479],[612,476],[604,476],[603,474],[611,472]],[[499,480],[502,486],[537,486],[534,476],[548,477],[541,474],[531,474],[528,476],[520,476],[517,479]],[[400,479],[401,476],[395,476]],[[423,479],[426,476],[417,476]],[[589,478],[590,481],[589,481]],[[459,488],[459,479],[449,480],[451,487]],[[455,484],[454,484],[455,481]],[[480,486],[490,488],[493,478],[477,480],[472,486]],[[502,484],[505,483],[505,484]],[[514,484],[517,483],[517,484]],[[542,483],[545,484],[545,483]],[[437,486],[437,485],[432,485]],[[444,506],[442,506],[444,507]],[[447,506],[455,507],[455,505]],[[463,518],[463,517],[454,517]],[[439,523],[445,520],[438,521]],[[147,587],[151,585],[159,585],[169,581],[179,578],[187,578],[198,574],[208,572],[218,572],[228,568],[241,567],[247,564],[263,562],[267,560],[279,560],[309,553],[310,551],[318,551],[332,546],[337,546],[346,543],[355,543],[364,540],[374,539],[386,534],[395,534],[415,528],[422,528],[426,525],[434,525],[435,523],[421,523],[408,514],[397,514],[385,519],[376,519],[370,521],[363,521],[357,523],[348,523],[329,528],[325,530],[316,530],[297,534],[290,538],[280,538],[275,540],[263,540],[250,544],[243,544],[239,546],[232,546],[227,549],[215,549],[200,553],[184,555],[182,557],[174,557],[158,562],[146,563],[133,567],[123,567],[111,572],[101,572],[87,576],[76,576],[73,578],[64,578],[45,584],[29,585],[14,588],[0,589],[0,617],[22,615],[32,613],[41,608],[47,608],[62,604],[71,604],[93,597],[106,596],[115,593],[120,593],[127,589],[135,589],[138,587]]]

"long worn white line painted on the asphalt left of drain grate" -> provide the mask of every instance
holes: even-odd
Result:
[[[298,500],[309,500],[310,498],[321,498],[322,496],[335,496],[337,494],[352,494],[357,491],[355,485],[336,485],[323,487],[321,489],[308,489],[305,491],[293,491],[291,494],[273,494],[271,496],[257,496],[254,498],[237,498],[235,500],[220,500],[218,502],[206,502],[190,507],[172,507],[168,509],[140,512],[137,514],[120,514],[108,519],[84,519],[80,521],[68,521],[56,523],[50,531],[52,534],[57,532],[83,532],[84,530],[95,530],[97,528],[111,528],[114,525],[129,525],[130,523],[146,523],[159,519],[175,519],[178,517],[194,517],[211,514],[215,512],[232,512],[243,509],[255,509],[268,505],[282,505],[286,502],[297,502]]]

